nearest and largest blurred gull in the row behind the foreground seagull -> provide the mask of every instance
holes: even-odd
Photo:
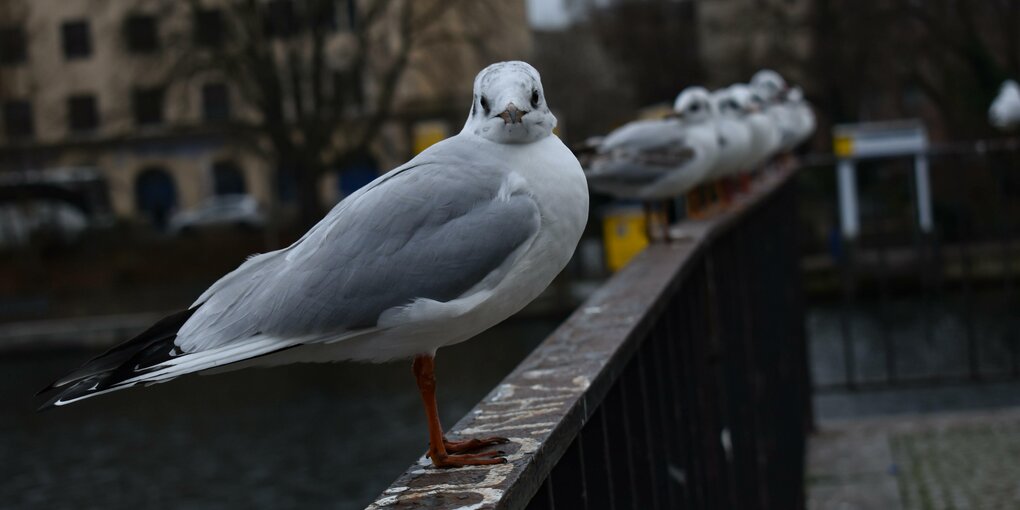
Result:
[[[672,116],[635,120],[602,141],[588,171],[593,190],[617,198],[678,197],[698,186],[719,152],[708,91],[692,87],[676,98]]]

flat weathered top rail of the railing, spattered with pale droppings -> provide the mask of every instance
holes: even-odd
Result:
[[[649,247],[448,431],[451,439],[507,437],[507,464],[440,470],[422,457],[368,508],[525,507],[602,403],[690,262],[793,173],[770,175],[724,213],[684,222],[675,233],[682,242]]]

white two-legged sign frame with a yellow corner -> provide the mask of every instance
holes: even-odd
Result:
[[[856,239],[861,232],[857,200],[857,161],[889,157],[914,157],[917,223],[927,234],[933,228],[931,189],[928,181],[928,134],[920,120],[896,120],[839,124],[833,129],[833,152],[843,235]]]

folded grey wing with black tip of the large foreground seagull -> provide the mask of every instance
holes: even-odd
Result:
[[[509,168],[455,142],[379,177],[294,245],[252,257],[187,312],[59,379],[44,407],[357,335],[387,310],[498,282],[537,235],[539,209]]]

